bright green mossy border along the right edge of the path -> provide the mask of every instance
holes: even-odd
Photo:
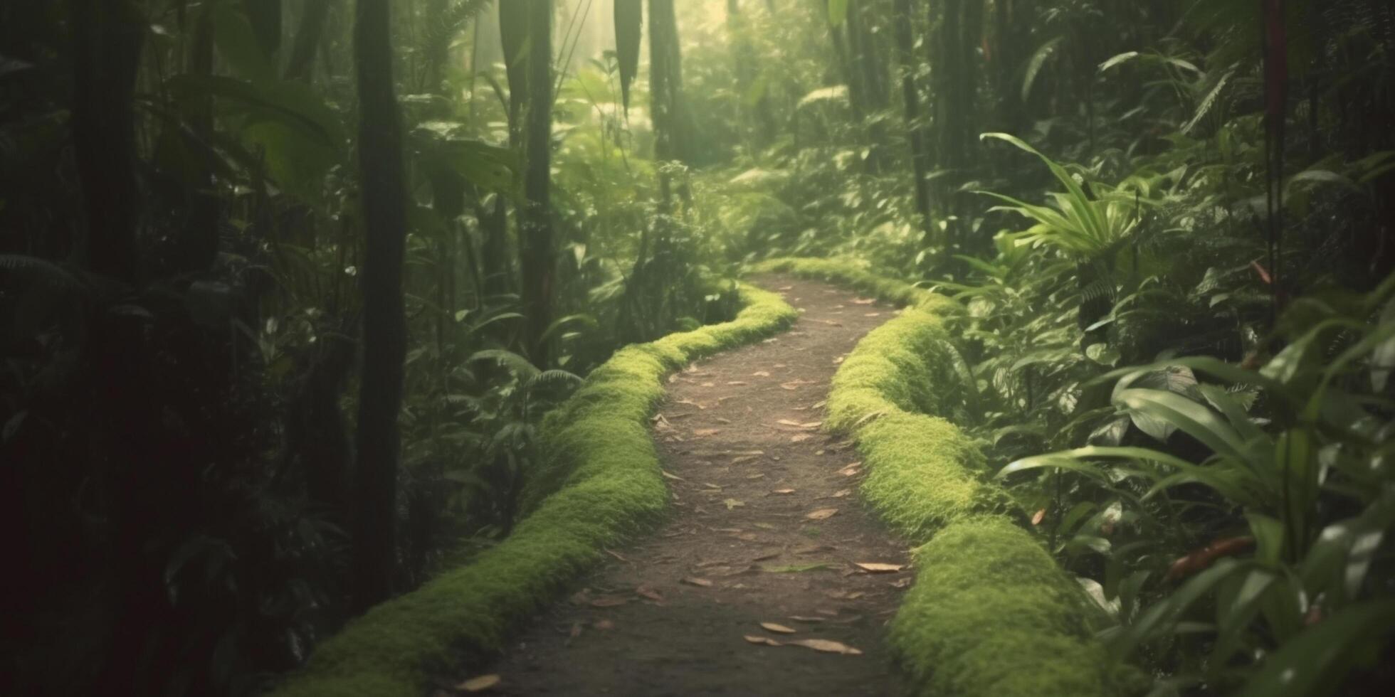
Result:
[[[939,697],[1120,694],[1092,638],[1088,598],[990,480],[956,424],[975,411],[974,379],[943,318],[960,307],[855,262],[774,259],[755,272],[833,280],[907,305],[869,332],[833,378],[824,425],[857,441],[861,493],[912,544],[917,583],[890,643],[918,693]]]

